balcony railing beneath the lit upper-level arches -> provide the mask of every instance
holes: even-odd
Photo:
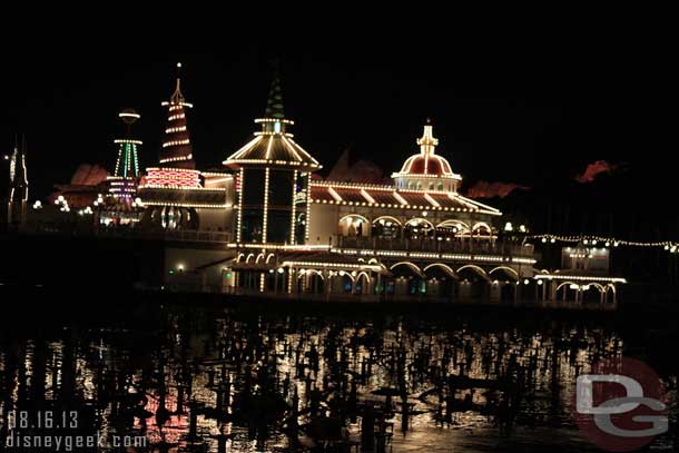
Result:
[[[489,254],[532,257],[531,244],[510,242],[490,242],[488,239],[437,240],[435,238],[383,239],[377,237],[340,236],[338,248],[358,248],[374,250],[406,250],[456,254]]]

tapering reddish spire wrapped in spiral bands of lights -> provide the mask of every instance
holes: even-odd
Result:
[[[165,168],[195,169],[193,146],[187,129],[185,108],[194,107],[186,101],[181,93],[181,78],[179,70],[181,63],[177,63],[177,86],[168,102],[167,127],[160,150],[160,166]]]

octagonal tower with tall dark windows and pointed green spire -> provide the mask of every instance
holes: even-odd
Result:
[[[308,236],[311,174],[321,165],[293,139],[285,118],[278,71],[262,130],[223,164],[237,171],[236,242],[301,244]],[[304,215],[302,215],[304,214]]]

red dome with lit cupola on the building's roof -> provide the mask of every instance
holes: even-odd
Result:
[[[433,136],[431,121],[424,125],[424,132],[417,139],[420,154],[409,157],[401,171],[392,174],[400,189],[444,190],[456,193],[462,177],[451,168],[449,161],[439,156],[439,139]]]

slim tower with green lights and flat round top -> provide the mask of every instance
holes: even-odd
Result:
[[[108,178],[110,193],[116,198],[131,199],[137,194],[139,178],[139,147],[141,140],[132,138],[131,127],[141,118],[134,109],[125,109],[118,118],[126,125],[125,138],[115,140],[118,158],[114,175]]]

